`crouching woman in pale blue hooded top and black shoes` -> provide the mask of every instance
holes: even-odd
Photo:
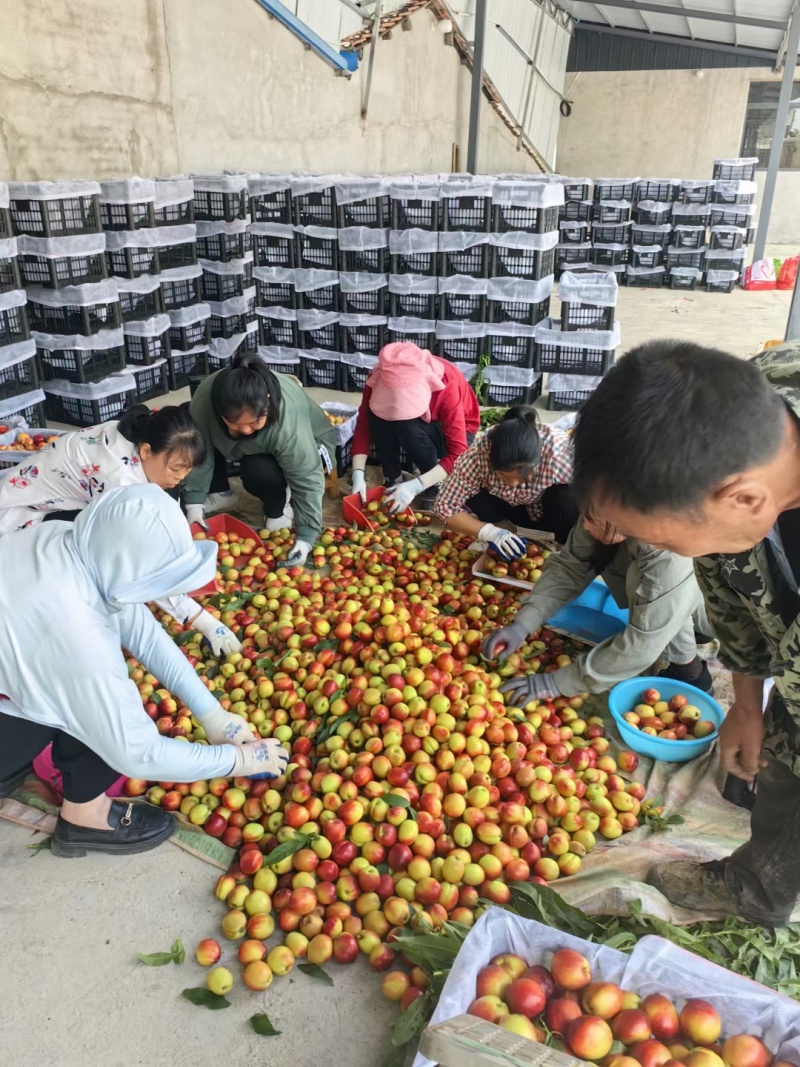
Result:
[[[121,774],[192,782],[284,773],[279,742],[220,707],[145,606],[205,585],[215,568],[217,544],[193,541],[157,485],[108,490],[74,524],[0,539],[0,796],[52,742],[64,784],[53,855],[127,855],[170,837],[169,812],[105,795]],[[183,701],[209,745],[159,734],[123,648]]]

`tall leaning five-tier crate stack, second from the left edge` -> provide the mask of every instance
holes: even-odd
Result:
[[[94,181],[12,182],[12,226],[27,288],[47,417],[75,426],[113,418],[132,399],[118,299],[109,284],[100,187]]]

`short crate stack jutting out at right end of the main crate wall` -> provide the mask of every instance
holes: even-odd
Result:
[[[559,280],[561,320],[537,327],[535,369],[547,375],[547,407],[574,411],[612,366],[620,346],[614,271],[564,271]]]

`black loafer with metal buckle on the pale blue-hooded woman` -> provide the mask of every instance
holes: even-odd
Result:
[[[172,837],[175,819],[169,811],[149,805],[112,800],[109,830],[91,830],[67,823],[59,815],[50,850],[53,856],[74,859],[86,853],[132,856],[146,853]]]

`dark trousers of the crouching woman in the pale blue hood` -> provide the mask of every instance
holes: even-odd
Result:
[[[90,748],[55,727],[0,713],[0,782],[23,770],[52,742],[52,759],[61,771],[64,799],[94,800],[119,777]]]

